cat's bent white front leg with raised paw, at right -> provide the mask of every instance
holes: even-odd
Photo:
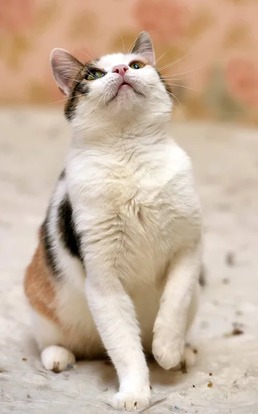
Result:
[[[164,369],[183,359],[187,328],[196,308],[196,284],[201,265],[201,248],[181,250],[169,266],[166,286],[153,329],[153,355]],[[188,352],[188,351],[187,351]]]

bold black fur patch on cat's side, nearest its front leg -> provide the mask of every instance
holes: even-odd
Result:
[[[72,204],[69,201],[68,195],[65,195],[58,207],[58,229],[65,248],[69,250],[71,255],[78,257],[83,262],[83,257],[80,253],[80,237],[75,230],[72,218]]]

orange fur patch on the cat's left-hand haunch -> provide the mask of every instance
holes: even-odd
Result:
[[[24,289],[34,311],[59,324],[55,310],[56,286],[46,262],[42,229],[39,246],[25,273]]]

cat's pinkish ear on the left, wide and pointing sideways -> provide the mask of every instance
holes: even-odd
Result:
[[[78,73],[83,70],[83,63],[70,55],[66,50],[56,48],[50,55],[50,64],[54,79],[63,95],[68,96]]]

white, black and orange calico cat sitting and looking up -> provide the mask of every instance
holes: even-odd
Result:
[[[25,275],[34,335],[48,370],[108,355],[112,406],[143,409],[145,355],[166,370],[192,357],[202,218],[191,161],[171,137],[147,32],[128,54],[81,63],[54,49],[50,61],[73,139]]]

